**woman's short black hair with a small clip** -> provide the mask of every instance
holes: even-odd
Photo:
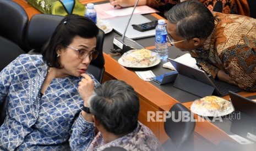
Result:
[[[50,40],[42,48],[43,60],[50,67],[62,68],[57,60],[57,49],[72,43],[75,36],[92,38],[96,37],[98,33],[99,28],[89,18],[75,14],[67,15],[62,19]]]

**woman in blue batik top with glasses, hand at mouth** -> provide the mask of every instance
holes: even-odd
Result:
[[[0,103],[7,98],[8,108],[0,150],[76,150],[90,141],[94,132],[83,124],[78,83],[89,76],[91,89],[100,85],[86,72],[98,55],[98,32],[90,19],[68,15],[42,55],[20,55],[1,71]]]

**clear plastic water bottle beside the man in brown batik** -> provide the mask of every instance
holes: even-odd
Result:
[[[158,20],[156,26],[156,40],[155,40],[155,51],[159,53],[160,59],[165,60],[168,57],[168,43],[167,43],[167,31],[165,26],[165,20]]]

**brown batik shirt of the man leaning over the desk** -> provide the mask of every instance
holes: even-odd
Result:
[[[192,50],[190,54],[214,78],[222,69],[240,88],[256,91],[256,19],[213,14],[213,33],[202,48]]]

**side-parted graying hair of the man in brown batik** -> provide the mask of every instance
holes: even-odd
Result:
[[[193,0],[176,4],[167,19],[177,24],[176,34],[184,39],[206,38],[214,29],[214,16],[203,3]]]

